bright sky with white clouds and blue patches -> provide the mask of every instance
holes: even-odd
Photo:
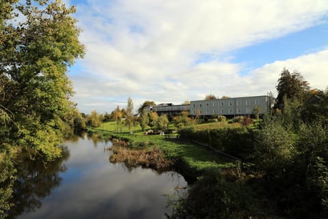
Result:
[[[284,68],[328,87],[327,0],[65,0],[86,55],[69,69],[80,112],[272,92]]]

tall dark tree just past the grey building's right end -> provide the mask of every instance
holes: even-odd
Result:
[[[275,108],[284,109],[284,97],[291,100],[303,101],[306,93],[310,90],[308,81],[305,81],[301,73],[294,71],[290,73],[286,68],[282,70],[278,79],[277,102]]]

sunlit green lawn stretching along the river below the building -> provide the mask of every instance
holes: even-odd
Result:
[[[148,127],[150,129],[150,127]],[[114,136],[116,138],[124,138],[130,142],[131,146],[159,146],[159,148],[165,153],[165,156],[172,159],[182,159],[190,168],[195,170],[204,170],[204,168],[230,168],[234,166],[234,163],[223,159],[219,155],[207,149],[191,144],[190,142],[182,142],[176,140],[176,134],[170,134],[170,138],[165,136],[151,135],[146,136],[141,131],[141,127],[132,127],[131,134],[124,123],[107,122],[103,123],[98,128],[89,129],[96,132],[103,138],[110,138]],[[118,132],[117,132],[118,130]]]

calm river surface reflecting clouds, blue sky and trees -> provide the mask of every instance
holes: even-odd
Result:
[[[16,188],[18,218],[165,218],[171,209],[163,194],[187,185],[175,172],[111,164],[111,142],[85,136],[65,146],[55,164],[26,165]]]

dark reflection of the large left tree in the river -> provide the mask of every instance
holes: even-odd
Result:
[[[18,165],[11,201],[14,206],[10,209],[10,218],[16,218],[24,211],[40,208],[43,198],[60,185],[59,172],[65,172],[67,169],[62,163],[70,157],[67,147],[62,147],[62,150],[63,156],[55,162],[44,164],[26,160]]]

